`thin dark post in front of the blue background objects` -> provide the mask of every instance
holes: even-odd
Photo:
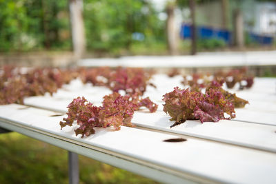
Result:
[[[197,30],[195,25],[195,0],[189,0],[190,5],[190,18],[191,18],[191,25],[190,25],[190,33],[191,33],[191,50],[190,54],[195,55],[197,53]]]

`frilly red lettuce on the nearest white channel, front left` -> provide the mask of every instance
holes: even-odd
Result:
[[[68,105],[67,118],[59,124],[61,129],[66,125],[72,126],[77,121],[79,127],[75,130],[76,135],[90,136],[94,134],[94,127],[114,127],[120,130],[121,125],[132,127],[132,116],[141,106],[146,106],[150,112],[157,110],[157,105],[150,99],[140,99],[138,95],[121,96],[117,92],[103,97],[103,105],[97,107],[88,103],[83,97],[74,99]]]

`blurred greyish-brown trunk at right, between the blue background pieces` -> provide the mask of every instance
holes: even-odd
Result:
[[[244,47],[244,19],[239,9],[234,10],[234,43],[237,47]]]

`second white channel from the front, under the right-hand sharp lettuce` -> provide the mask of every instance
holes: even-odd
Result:
[[[67,111],[66,105],[68,105],[68,103],[68,101],[63,101],[61,99],[44,98],[43,96],[37,96],[33,101],[28,100],[28,105],[63,113]],[[96,103],[95,105],[100,104]],[[275,114],[265,115],[267,115],[266,117],[268,117],[268,120],[271,119],[274,122],[273,117]],[[274,132],[276,127],[273,125],[220,120],[217,123],[186,121],[186,123],[170,128],[173,122],[169,121],[169,119],[170,116],[163,111],[149,113],[145,110],[145,112],[135,112],[132,123],[141,127],[150,127],[166,132],[175,132],[177,134],[186,134],[204,139],[276,152],[276,134]]]

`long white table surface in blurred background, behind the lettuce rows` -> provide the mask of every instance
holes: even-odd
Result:
[[[197,68],[246,65],[276,65],[276,51],[209,52],[196,56],[135,56],[118,59],[81,59],[79,65],[88,67],[124,66],[141,68]]]

